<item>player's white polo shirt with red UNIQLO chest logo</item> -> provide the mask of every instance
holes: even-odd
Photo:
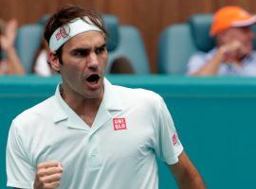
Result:
[[[183,147],[163,99],[154,92],[104,81],[104,95],[88,127],[56,94],[22,112],[9,129],[8,186],[31,188],[36,166],[64,165],[59,188],[156,189],[155,155],[177,163]]]

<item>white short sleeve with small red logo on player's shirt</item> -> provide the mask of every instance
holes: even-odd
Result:
[[[176,129],[174,128],[173,118],[168,111],[163,99],[159,97],[157,110],[157,121],[155,127],[155,153],[159,159],[168,164],[178,162],[178,156],[183,151]]]

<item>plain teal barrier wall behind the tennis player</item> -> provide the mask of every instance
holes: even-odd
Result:
[[[256,170],[256,78],[109,77],[119,85],[161,94],[179,138],[208,188],[252,188]],[[0,77],[0,188],[11,119],[54,93],[59,77]],[[160,188],[176,188],[159,163]]]

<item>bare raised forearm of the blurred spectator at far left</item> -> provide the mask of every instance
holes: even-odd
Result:
[[[7,50],[7,62],[8,62],[8,73],[24,75],[25,70],[23,68],[22,62],[19,60],[14,47],[10,47]]]

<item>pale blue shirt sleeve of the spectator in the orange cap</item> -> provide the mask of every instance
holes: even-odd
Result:
[[[192,55],[187,66],[187,74],[192,75],[198,71],[207,62],[206,57],[206,54],[202,52]]]

